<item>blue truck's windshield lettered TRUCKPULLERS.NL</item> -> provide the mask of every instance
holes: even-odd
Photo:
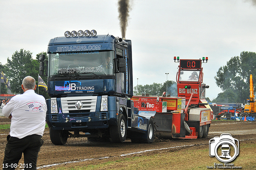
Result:
[[[113,74],[114,51],[60,52],[49,54],[48,58],[49,76]]]

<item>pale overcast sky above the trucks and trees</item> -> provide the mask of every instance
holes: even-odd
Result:
[[[69,30],[121,37],[118,0],[0,0],[0,62],[16,50],[46,52],[50,39]],[[242,51],[256,52],[252,0],[133,0],[126,39],[132,40],[134,86],[176,81],[173,57],[199,59],[211,100],[222,90],[214,76]],[[138,81],[137,81],[138,78]],[[248,92],[249,96],[249,92]]]

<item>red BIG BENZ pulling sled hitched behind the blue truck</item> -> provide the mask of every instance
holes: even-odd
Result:
[[[178,97],[133,96],[134,106],[141,112],[151,110],[155,130],[160,137],[206,138],[213,119],[213,111],[205,100],[205,89],[201,64],[208,60],[180,60],[177,72]],[[149,113],[144,113],[149,114]]]

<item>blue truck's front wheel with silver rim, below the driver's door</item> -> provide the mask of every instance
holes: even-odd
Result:
[[[117,126],[110,126],[110,138],[112,142],[120,143],[126,139],[127,128],[126,119],[123,114],[118,115]]]

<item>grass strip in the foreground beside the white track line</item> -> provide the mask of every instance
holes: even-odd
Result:
[[[254,148],[252,150],[252,148]],[[240,155],[233,161],[229,162],[233,166],[242,167],[243,170],[256,169],[255,142],[243,142],[240,145]],[[246,153],[246,154],[244,154]],[[79,163],[78,163],[79,164]],[[208,145],[198,146],[198,149],[185,148],[170,152],[161,152],[153,155],[134,156],[131,158],[120,158],[115,161],[98,162],[96,164],[90,162],[85,166],[69,167],[52,167],[50,170],[209,170],[224,169],[214,164],[223,164],[215,157],[209,156]],[[213,168],[210,168],[210,167]],[[230,169],[232,166],[230,166]],[[229,169],[229,168],[225,168]],[[241,168],[233,168],[241,169]]]

